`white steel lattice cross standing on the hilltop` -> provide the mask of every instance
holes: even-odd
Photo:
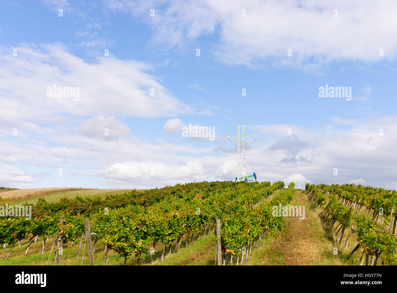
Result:
[[[245,135],[245,124],[239,123],[237,135],[225,135],[225,143],[237,143],[237,178],[244,177],[245,174],[245,143],[257,143],[257,134]]]

